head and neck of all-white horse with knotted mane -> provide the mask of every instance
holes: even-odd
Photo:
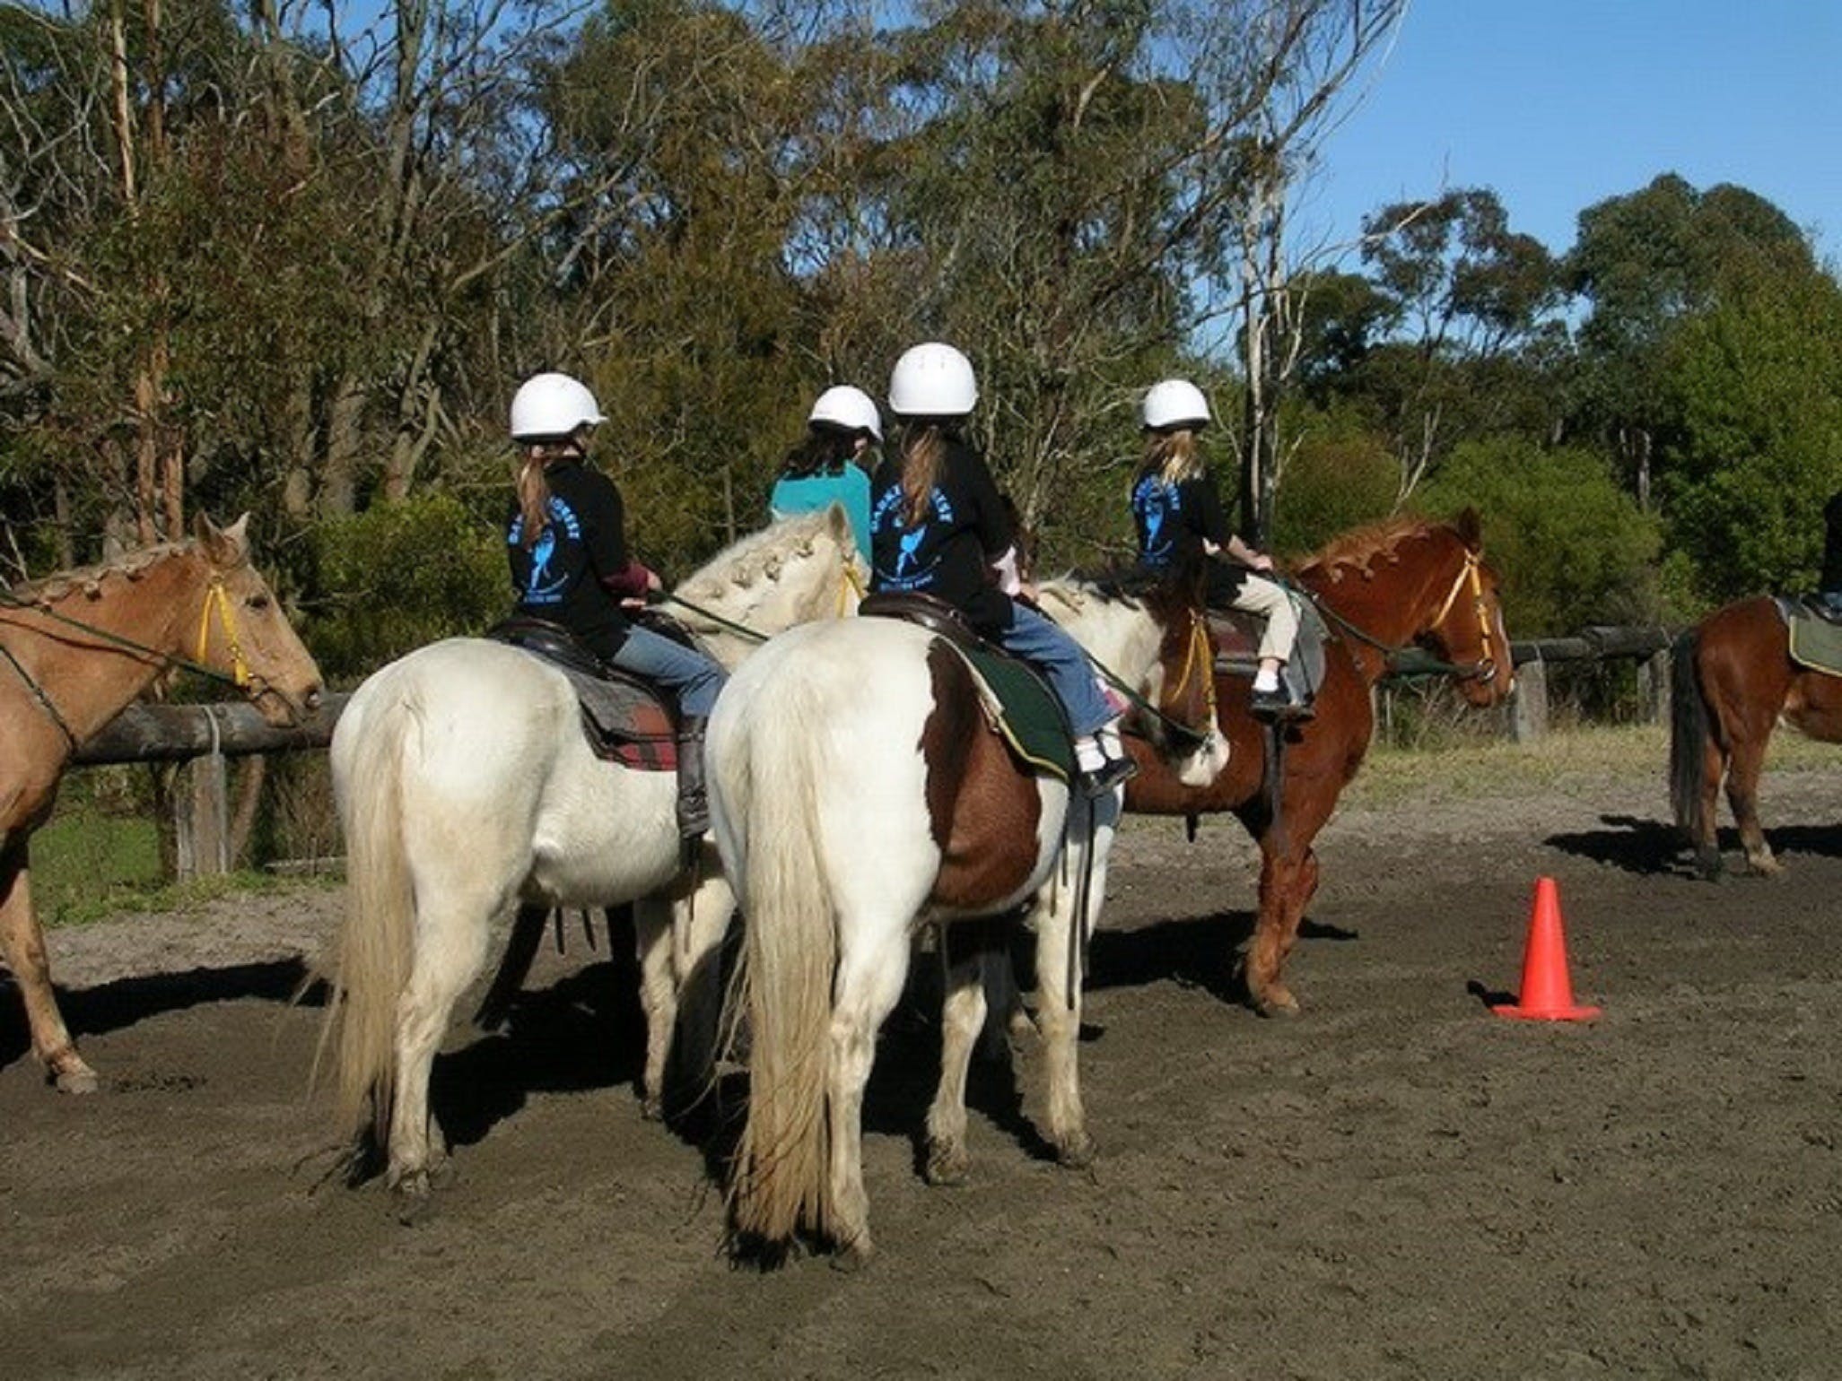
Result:
[[[869,573],[842,505],[796,514],[726,547],[672,591],[683,622],[735,667],[761,639],[855,613]]]

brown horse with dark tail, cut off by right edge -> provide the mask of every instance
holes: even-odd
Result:
[[[1811,738],[1842,742],[1842,678],[1790,659],[1785,615],[1768,597],[1728,604],[1676,639],[1669,713],[1669,801],[1702,876],[1720,875],[1715,794],[1728,805],[1746,865],[1779,864],[1759,829],[1759,772],[1778,720]]]

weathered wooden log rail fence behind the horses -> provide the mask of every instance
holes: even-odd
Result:
[[[1516,694],[1509,707],[1509,733],[1518,742],[1547,731],[1547,668],[1555,663],[1636,657],[1638,687],[1649,713],[1669,705],[1671,633],[1661,628],[1588,628],[1577,637],[1544,637],[1510,644],[1516,661]],[[1416,670],[1407,659],[1396,676],[1437,674],[1428,659]],[[230,792],[227,760],[249,753],[297,753],[326,748],[339,713],[352,696],[330,694],[319,713],[293,729],[276,729],[252,705],[129,705],[77,749],[76,762],[179,762],[175,783],[179,876],[230,871]]]

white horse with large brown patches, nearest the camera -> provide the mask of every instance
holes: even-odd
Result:
[[[1227,746],[1203,703],[1210,657],[1194,604],[1172,591],[1125,598],[1057,582],[1043,587],[1043,608],[1172,718],[1207,725],[1173,755],[1186,781],[1212,781]],[[748,1020],[750,1103],[729,1188],[733,1245],[772,1258],[810,1232],[838,1248],[840,1265],[869,1258],[864,1085],[910,939],[930,923],[1030,902],[1048,1140],[1063,1164],[1085,1164],[1081,961],[1120,794],[1070,799],[1059,779],[1020,768],[989,731],[960,657],[892,619],[775,637],[724,687],[705,757],[717,843],[746,915],[737,1007]],[[965,1073],[995,950],[952,957],[943,932],[941,952],[927,1169],[954,1182],[967,1166]]]

